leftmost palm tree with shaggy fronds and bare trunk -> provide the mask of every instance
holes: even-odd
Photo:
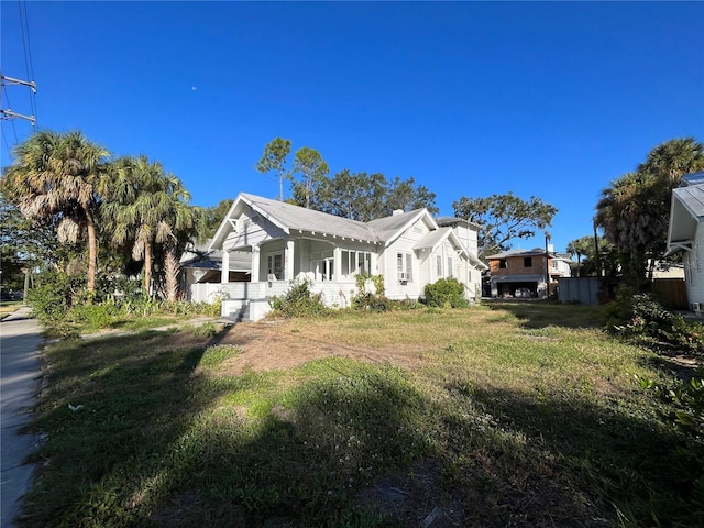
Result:
[[[79,131],[37,132],[14,152],[15,161],[2,177],[6,195],[24,216],[57,222],[59,242],[87,240],[87,289],[95,292],[96,215],[110,153]]]

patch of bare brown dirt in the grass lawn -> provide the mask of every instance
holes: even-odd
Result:
[[[301,328],[302,327],[302,328]],[[370,363],[393,363],[414,369],[420,365],[427,346],[396,344],[372,348],[350,343],[331,342],[306,329],[300,321],[287,320],[242,322],[231,327],[219,344],[238,346],[242,353],[229,360],[228,374],[286,370],[321,358],[349,358]]]

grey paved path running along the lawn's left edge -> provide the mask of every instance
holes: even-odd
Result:
[[[19,499],[32,482],[33,465],[23,464],[36,448],[36,439],[18,431],[31,420],[28,408],[40,389],[42,329],[29,319],[30,309],[20,308],[0,322],[0,437],[2,509],[0,526],[16,526],[12,519]]]

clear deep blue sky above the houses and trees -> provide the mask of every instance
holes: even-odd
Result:
[[[601,189],[653,146],[704,141],[702,2],[0,8],[2,73],[33,73],[40,128],[158,160],[199,206],[276,197],[254,167],[282,136],[320,151],[332,174],[414,176],[441,215],[462,196],[539,196],[559,209],[563,250],[592,232]],[[4,88],[3,109],[30,103]],[[2,122],[2,165],[30,133]]]

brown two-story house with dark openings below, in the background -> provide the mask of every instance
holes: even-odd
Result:
[[[549,284],[569,277],[570,255],[548,248],[509,250],[487,257],[492,277],[492,297],[546,297]]]

